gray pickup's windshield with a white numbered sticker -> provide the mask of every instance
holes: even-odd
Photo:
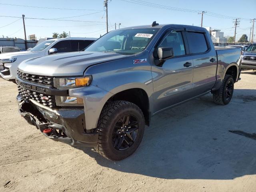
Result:
[[[136,54],[148,46],[158,30],[159,28],[115,30],[102,36],[85,51]]]

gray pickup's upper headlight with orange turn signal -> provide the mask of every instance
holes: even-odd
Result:
[[[89,86],[92,82],[92,76],[84,77],[67,77],[67,78],[54,78],[54,87],[59,89],[72,89],[83,86]]]

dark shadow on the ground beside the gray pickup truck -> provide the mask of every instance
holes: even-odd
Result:
[[[101,166],[166,179],[234,179],[256,174],[256,140],[229,130],[256,132],[256,90],[235,90],[227,106],[208,94],[152,118],[137,151],[120,162],[80,148]]]

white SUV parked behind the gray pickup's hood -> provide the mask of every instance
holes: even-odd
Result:
[[[5,80],[15,80],[20,62],[34,57],[56,53],[81,51],[97,38],[62,38],[46,40],[30,51],[6,53],[0,55],[0,76]]]

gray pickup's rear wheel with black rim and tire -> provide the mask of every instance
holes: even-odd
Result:
[[[216,104],[226,105],[233,96],[234,92],[234,80],[231,75],[225,75],[221,87],[213,92],[213,100]]]

